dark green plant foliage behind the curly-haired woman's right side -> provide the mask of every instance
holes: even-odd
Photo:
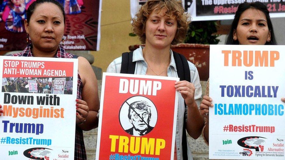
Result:
[[[191,22],[184,43],[218,44],[220,35],[212,35],[217,32],[216,21]]]

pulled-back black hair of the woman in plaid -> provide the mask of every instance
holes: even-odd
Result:
[[[58,8],[60,8],[61,12],[62,12],[62,15],[63,15],[63,22],[65,23],[65,12],[64,12],[64,8],[62,6],[61,3],[59,3],[58,1],[55,1],[55,0],[37,0],[37,1],[34,1],[30,6],[29,8],[27,9],[27,22],[29,23],[30,22],[30,19],[31,19],[31,16],[32,14],[34,13],[34,11],[36,10],[37,6],[39,4],[42,4],[42,3],[53,3],[55,4],[56,6],[58,6]]]

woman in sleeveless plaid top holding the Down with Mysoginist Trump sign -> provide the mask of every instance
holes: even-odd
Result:
[[[34,1],[25,20],[25,29],[32,43],[12,56],[73,58],[74,55],[65,52],[60,45],[64,27],[65,13],[60,3],[55,0]],[[82,130],[98,126],[99,99],[95,74],[84,57],[78,57],[77,90],[74,159],[86,159]]]

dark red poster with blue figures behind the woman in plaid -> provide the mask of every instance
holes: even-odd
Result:
[[[24,20],[33,1],[0,1],[0,50],[23,50],[26,47]],[[102,0],[59,2],[65,8],[64,49],[99,50]]]

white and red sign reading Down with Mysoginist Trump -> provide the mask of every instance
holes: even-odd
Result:
[[[0,56],[0,78],[11,87],[0,92],[1,159],[74,159],[78,60]],[[12,79],[16,79],[13,82]],[[71,94],[28,93],[28,81],[73,79]],[[10,85],[9,85],[10,86]],[[9,87],[8,86],[8,87]],[[34,85],[33,85],[34,88]],[[53,90],[53,86],[51,87]],[[72,101],[74,100],[74,101]]]

